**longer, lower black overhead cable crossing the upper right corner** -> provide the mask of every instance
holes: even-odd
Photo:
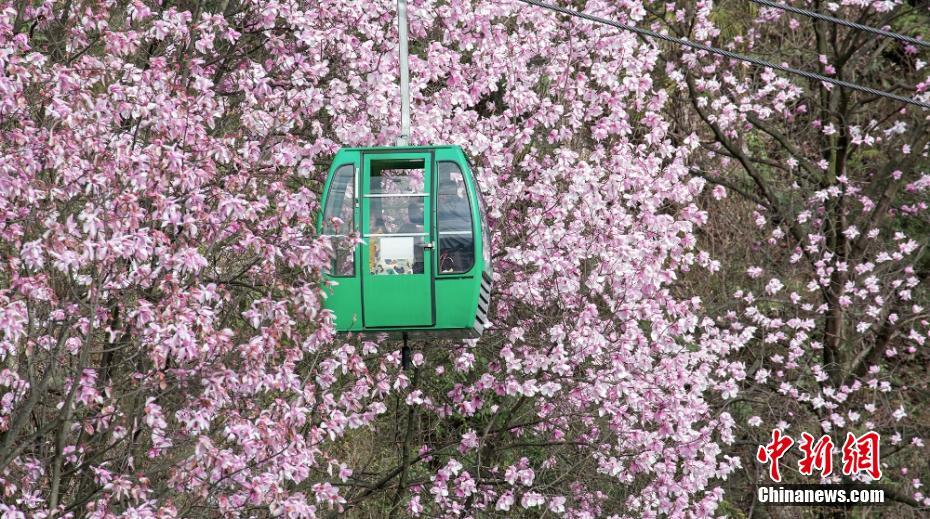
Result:
[[[872,88],[872,87],[868,87],[868,86],[864,86],[864,85],[859,85],[859,84],[856,84],[856,83],[850,83],[849,81],[843,81],[842,79],[836,79],[836,78],[832,78],[832,77],[829,77],[829,76],[824,76],[824,75],[822,75],[822,74],[817,74],[817,73],[815,73],[815,72],[808,72],[808,71],[806,71],[806,70],[797,69],[797,68],[794,68],[794,67],[788,67],[788,66],[785,66],[785,65],[777,65],[777,64],[775,64],[775,63],[772,63],[772,62],[769,62],[769,61],[765,61],[765,60],[761,60],[761,59],[758,59],[758,58],[753,58],[753,57],[751,57],[751,56],[745,56],[745,55],[743,55],[743,54],[737,54],[737,53],[735,53],[735,52],[730,52],[730,51],[728,51],[728,50],[718,49],[718,48],[716,48],[716,47],[711,47],[711,46],[709,46],[709,45],[704,45],[703,43],[697,43],[697,42],[689,41],[689,40],[686,40],[686,39],[684,39],[684,38],[677,38],[677,37],[675,37],[675,36],[668,36],[668,35],[666,35],[666,34],[660,34],[660,33],[658,33],[658,32],[651,31],[651,30],[649,30],[649,29],[643,29],[643,28],[641,28],[641,27],[636,27],[636,26],[634,26],[634,25],[628,25],[628,24],[625,24],[625,23],[616,22],[616,21],[614,21],[614,20],[608,20],[608,19],[606,19],[606,18],[601,18],[601,17],[599,17],[599,16],[594,16],[594,15],[591,15],[591,14],[586,14],[586,13],[581,13],[581,12],[578,12],[578,11],[573,11],[573,10],[571,10],[571,9],[566,9],[566,8],[564,8],[564,7],[559,7],[559,6],[557,6],[557,5],[548,4],[548,3],[546,3],[546,2],[539,2],[539,1],[537,1],[537,0],[518,0],[518,1],[519,1],[519,2],[522,2],[522,3],[524,3],[524,4],[533,5],[533,6],[536,6],[536,7],[541,7],[541,8],[543,8],[543,9],[548,9],[548,10],[550,10],[550,11],[555,11],[555,12],[557,12],[557,13],[562,13],[562,14],[565,14],[565,15],[568,15],[568,16],[572,16],[572,17],[575,17],[575,18],[581,18],[581,19],[587,20],[587,21],[589,21],[589,22],[599,23],[599,24],[602,24],[602,25],[608,25],[608,26],[611,26],[611,27],[615,27],[615,28],[617,28],[617,29],[622,29],[622,30],[624,30],[624,31],[633,32],[633,33],[639,34],[640,36],[645,36],[645,37],[648,37],[648,38],[655,38],[655,39],[658,39],[658,40],[667,41],[667,42],[669,42],[669,43],[675,43],[675,44],[677,44],[677,45],[682,45],[682,46],[685,46],[685,47],[690,47],[690,48],[692,48],[692,49],[703,50],[703,51],[709,52],[709,53],[711,53],[711,54],[716,54],[716,55],[718,55],[718,56],[723,56],[723,57],[725,57],[725,58],[735,59],[735,60],[737,60],[737,61],[744,61],[744,62],[746,62],[746,63],[751,63],[751,64],[753,64],[753,65],[756,65],[756,66],[758,66],[758,67],[769,68],[769,69],[772,69],[772,70],[778,70],[778,71],[780,71],[780,72],[784,72],[784,73],[787,73],[787,74],[794,74],[794,75],[801,76],[801,77],[804,77],[804,78],[807,78],[807,79],[812,79],[812,80],[814,80],[814,81],[822,81],[822,82],[824,82],[824,83],[829,83],[829,84],[831,84],[831,85],[836,85],[836,86],[838,86],[838,87],[847,88],[847,89],[850,89],[850,90],[856,90],[856,91],[858,91],[858,92],[863,92],[863,93],[871,94],[871,95],[878,96],[878,97],[884,97],[884,98],[887,98],[887,99],[893,99],[893,100],[898,101],[898,102],[900,102],[900,103],[905,103],[905,104],[909,104],[909,105],[919,106],[919,107],[921,107],[921,108],[930,109],[930,103],[925,102],[925,101],[921,101],[921,100],[919,100],[919,99],[914,99],[914,98],[912,98],[912,97],[905,97],[905,96],[901,96],[901,95],[898,95],[898,94],[893,94],[893,93],[891,93],[891,92],[886,92],[886,91],[884,91],[884,90],[877,90],[877,89]]]

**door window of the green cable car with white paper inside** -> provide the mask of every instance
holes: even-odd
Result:
[[[380,166],[380,167],[378,167]],[[423,161],[372,166],[368,193],[368,268],[372,274],[424,272],[426,184]]]

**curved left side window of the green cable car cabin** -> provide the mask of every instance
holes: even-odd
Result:
[[[330,237],[333,261],[327,273],[334,276],[355,274],[355,246],[350,235],[355,227],[355,166],[340,166],[333,175],[323,209],[323,235]]]

